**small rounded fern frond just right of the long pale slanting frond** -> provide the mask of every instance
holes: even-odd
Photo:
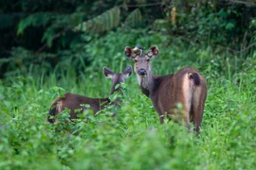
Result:
[[[142,15],[140,10],[137,8],[134,11],[132,11],[127,18],[125,19],[124,24],[126,26],[131,26],[131,27],[136,27],[137,25],[140,24],[142,20]]]

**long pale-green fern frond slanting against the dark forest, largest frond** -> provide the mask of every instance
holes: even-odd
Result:
[[[120,8],[111,8],[101,15],[83,22],[82,24],[75,26],[74,31],[82,32],[97,32],[101,33],[104,31],[109,31],[114,27],[119,26],[120,23]]]

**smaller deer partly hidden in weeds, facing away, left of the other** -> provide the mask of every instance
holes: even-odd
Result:
[[[113,73],[107,67],[103,68],[104,76],[112,79],[112,87],[110,94],[114,93],[115,91],[121,92],[121,87],[119,86],[117,89],[115,87],[124,82],[125,78],[132,75],[132,67],[128,66],[125,68],[123,73]],[[57,115],[58,113],[62,112],[64,109],[70,110],[70,119],[76,119],[78,113],[82,113],[85,109],[82,107],[82,104],[89,104],[90,108],[86,108],[88,110],[93,110],[94,113],[98,112],[105,108],[105,106],[112,104],[119,106],[119,99],[111,102],[109,97],[105,98],[90,98],[87,96],[75,94],[75,93],[65,93],[64,97],[59,97],[51,103],[51,107],[48,114],[48,122],[54,123],[56,120],[52,118],[52,116]],[[79,111],[75,111],[79,110]]]

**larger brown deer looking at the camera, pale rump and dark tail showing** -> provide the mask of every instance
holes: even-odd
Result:
[[[137,82],[142,93],[152,100],[160,122],[163,123],[164,117],[171,118],[176,115],[177,105],[182,104],[182,110],[179,112],[187,127],[190,130],[192,121],[194,130],[199,132],[207,97],[207,82],[204,76],[191,67],[183,68],[173,75],[155,76],[150,60],[159,54],[158,47],[151,47],[146,54],[143,54],[142,50],[140,46],[127,46],[124,53],[127,58],[135,61]]]

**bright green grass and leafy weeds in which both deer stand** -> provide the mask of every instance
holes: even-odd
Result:
[[[216,57],[209,49],[196,53],[197,62],[187,61],[182,58],[186,52],[180,52],[174,53],[177,59],[169,59],[174,65],[180,59],[180,64],[170,67],[170,53],[163,52],[161,66],[160,57],[155,58],[155,74],[192,64],[207,77],[208,98],[198,137],[172,121],[160,125],[150,99],[140,93],[135,74],[127,78],[117,117],[111,117],[113,108],[97,117],[85,112],[77,124],[62,122],[55,131],[56,126],[46,122],[51,101],[64,93],[55,86],[105,97],[111,80],[103,76],[102,68],[81,75],[72,68],[65,73],[59,68],[48,76],[31,72],[0,81],[0,169],[254,169],[255,56],[238,69],[231,68],[229,59],[218,60],[225,56]],[[114,63],[104,65],[118,72],[133,64],[128,59]],[[219,71],[225,65],[231,66]]]

